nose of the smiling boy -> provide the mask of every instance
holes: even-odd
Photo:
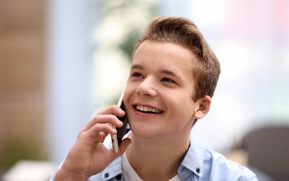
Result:
[[[156,81],[153,77],[147,77],[138,85],[136,91],[140,95],[155,97],[157,95]]]

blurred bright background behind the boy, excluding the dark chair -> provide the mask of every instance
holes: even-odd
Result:
[[[116,103],[157,15],[190,18],[221,63],[211,111],[192,130],[206,148],[230,152],[255,129],[288,127],[287,0],[0,0],[0,175],[21,160],[65,159]]]

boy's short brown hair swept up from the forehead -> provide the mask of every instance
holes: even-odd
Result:
[[[210,97],[214,95],[221,72],[220,63],[203,38],[202,33],[190,19],[164,16],[154,18],[147,30],[136,42],[133,55],[144,40],[172,42],[191,49],[198,59],[193,68],[193,77],[195,79],[193,100],[197,101],[206,95]]]

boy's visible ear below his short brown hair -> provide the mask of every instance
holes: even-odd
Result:
[[[197,104],[197,110],[193,114],[193,117],[199,120],[200,118],[206,116],[211,107],[211,102],[212,98],[209,97],[209,95],[206,95],[204,98],[197,100],[197,102],[195,102]]]

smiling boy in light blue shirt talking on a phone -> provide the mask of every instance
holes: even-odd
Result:
[[[191,134],[209,111],[220,65],[191,20],[156,17],[135,45],[125,110],[99,112],[52,180],[257,180],[248,168],[202,148]],[[126,114],[131,132],[114,153],[103,144]]]

